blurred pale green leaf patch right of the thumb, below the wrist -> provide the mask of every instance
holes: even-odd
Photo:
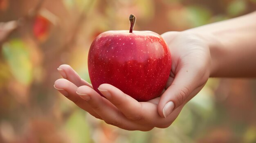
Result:
[[[210,119],[215,117],[213,91],[208,86],[191,99],[180,112],[179,117],[173,122],[173,126],[179,128],[182,134],[198,134],[209,125]],[[197,128],[195,130],[195,128]]]

